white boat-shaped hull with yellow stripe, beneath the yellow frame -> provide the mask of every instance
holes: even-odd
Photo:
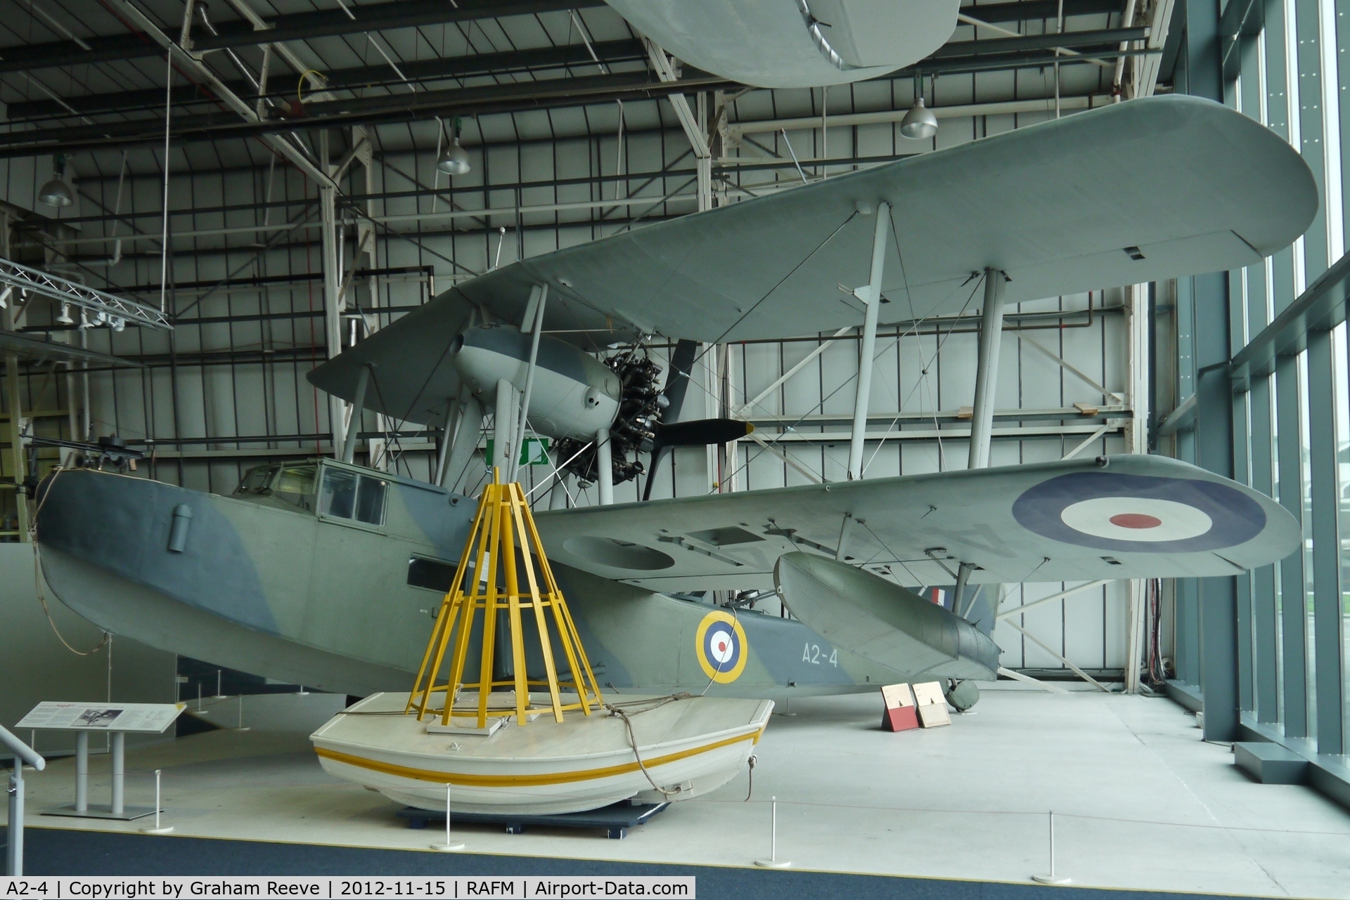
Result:
[[[745,769],[774,710],[771,700],[624,695],[614,704],[624,715],[543,714],[521,726],[509,715],[513,692],[490,696],[500,715],[487,727],[467,715],[478,710],[475,692],[459,695],[455,711],[466,715],[448,725],[405,715],[408,694],[375,694],[310,739],[327,772],[396,803],[444,810],[450,784],[454,811],[558,814],[720,788]],[[444,694],[431,699],[440,706]]]

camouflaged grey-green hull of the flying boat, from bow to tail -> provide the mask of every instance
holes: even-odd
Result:
[[[409,560],[454,565],[475,503],[323,460],[320,471],[328,470],[386,482],[383,524],[112,472],[59,472],[40,497],[43,573],[77,613],[151,646],[327,691],[406,691],[441,599],[408,584]],[[190,524],[176,553],[167,546],[181,505]],[[733,679],[713,679],[716,668],[701,664],[707,656],[699,626],[726,610],[554,569],[597,677],[610,690],[780,699],[867,691],[911,675],[903,664],[848,653],[798,621],[740,610],[744,667]],[[972,664],[968,677],[984,671]]]

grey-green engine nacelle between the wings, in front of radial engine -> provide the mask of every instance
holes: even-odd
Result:
[[[452,362],[468,390],[485,405],[497,399],[497,382],[525,390],[533,337],[512,325],[478,325],[460,332],[450,345]],[[622,383],[590,354],[540,335],[535,386],[529,394],[529,424],[549,437],[593,440],[618,414]]]

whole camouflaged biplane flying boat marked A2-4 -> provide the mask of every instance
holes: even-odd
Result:
[[[228,497],[59,471],[42,486],[42,569],[116,634],[328,691],[406,692],[474,515],[459,488],[508,470],[533,433],[554,440],[555,480],[598,487],[595,506],[532,499],[599,690],[780,699],[991,679],[998,592],[972,599],[980,586],[1237,575],[1295,552],[1297,524],[1156,456],[984,468],[986,455],[864,479],[860,425],[849,480],[613,503],[645,455],[656,467],[664,448],[747,434],[682,416],[697,343],[861,327],[865,410],[879,324],[956,313],[980,290],[996,328],[1007,302],[1249,266],[1316,208],[1287,142],[1168,96],[533,256],[309,376],[439,429],[432,482],[352,464],[359,416],[338,457],[254,468]],[[597,333],[628,351],[587,352]],[[653,336],[676,343],[660,387],[641,352]],[[990,416],[976,398],[972,429]],[[911,590],[953,580],[950,607]],[[724,590],[774,592],[792,617],[698,596]]]

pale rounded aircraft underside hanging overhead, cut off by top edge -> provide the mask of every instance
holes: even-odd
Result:
[[[676,58],[756,88],[818,88],[902,69],[946,43],[960,7],[960,0],[606,1]]]

